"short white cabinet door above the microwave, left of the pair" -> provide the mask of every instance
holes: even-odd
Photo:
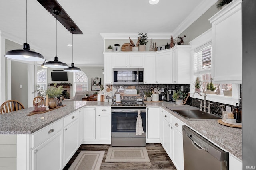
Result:
[[[113,61],[113,68],[122,68],[122,67],[129,67],[128,64],[128,55],[118,53],[112,55],[112,61]]]

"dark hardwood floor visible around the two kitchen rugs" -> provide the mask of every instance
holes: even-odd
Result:
[[[81,150],[106,151],[100,170],[176,170],[174,164],[172,163],[172,160],[170,160],[169,156],[167,155],[160,143],[146,144],[146,149],[148,150],[148,157],[150,159],[150,162],[105,162],[109,147],[111,147],[111,145],[82,144],[63,170],[68,170],[68,168],[71,166]]]

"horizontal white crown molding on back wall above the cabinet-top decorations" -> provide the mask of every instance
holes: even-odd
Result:
[[[105,39],[137,39],[138,33],[100,33],[103,40]],[[170,39],[172,33],[148,33],[148,39]]]

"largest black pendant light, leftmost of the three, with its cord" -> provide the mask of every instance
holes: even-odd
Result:
[[[26,43],[23,44],[23,49],[7,51],[6,58],[24,60],[24,61],[44,61],[44,56],[35,51],[31,51],[27,43],[27,0],[26,0]]]

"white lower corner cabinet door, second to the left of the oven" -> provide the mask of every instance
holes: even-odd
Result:
[[[96,139],[96,109],[84,108],[84,140]]]

